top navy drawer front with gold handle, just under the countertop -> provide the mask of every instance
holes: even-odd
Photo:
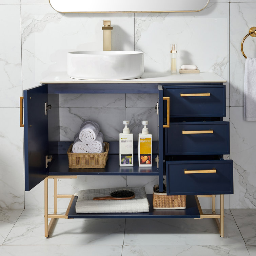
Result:
[[[170,97],[170,116],[225,116],[225,86],[215,86],[176,86],[176,88],[164,86],[166,88],[164,96]]]

